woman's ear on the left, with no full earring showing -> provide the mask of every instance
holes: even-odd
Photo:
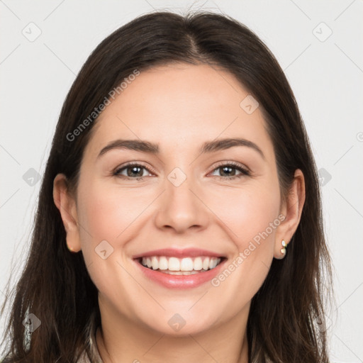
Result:
[[[79,252],[81,250],[81,242],[79,238],[76,201],[69,193],[65,174],[57,174],[57,177],[53,181],[53,199],[55,206],[60,211],[60,216],[65,226],[67,247],[71,252]]]

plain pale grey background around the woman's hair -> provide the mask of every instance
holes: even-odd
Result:
[[[335,269],[336,302],[328,312],[332,362],[363,362],[362,0],[0,0],[1,301],[6,281],[16,280],[25,261],[38,177],[62,102],[86,57],[135,16],[189,8],[245,23],[286,72],[321,175]]]

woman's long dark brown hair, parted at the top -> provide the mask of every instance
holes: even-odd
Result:
[[[274,259],[252,299],[247,323],[250,362],[328,362],[323,326],[323,274],[330,277],[318,177],[308,136],[284,72],[250,29],[228,16],[154,12],[135,18],[91,53],[69,90],[43,175],[33,240],[21,279],[13,289],[4,355],[9,362],[77,362],[89,352],[91,327],[99,325],[97,289],[82,252],[72,253],[52,197],[53,179],[64,173],[77,188],[84,148],[96,121],[74,135],[94,108],[135,69],[172,62],[208,64],[233,74],[264,113],[277,158],[283,195],[296,169],[305,177],[301,222],[282,260]],[[5,304],[4,304],[5,306]],[[4,307],[3,307],[4,311]],[[24,344],[23,320],[33,313],[41,327]]]

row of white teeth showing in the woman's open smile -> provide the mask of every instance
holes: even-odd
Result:
[[[220,263],[220,258],[216,257],[165,257],[150,256],[143,257],[141,264],[150,269],[159,269],[167,274],[197,274],[199,271],[214,269]]]

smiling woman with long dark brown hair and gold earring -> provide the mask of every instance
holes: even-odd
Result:
[[[4,355],[328,362],[329,266],[274,56],[227,16],[150,13],[92,52],[65,100]]]

